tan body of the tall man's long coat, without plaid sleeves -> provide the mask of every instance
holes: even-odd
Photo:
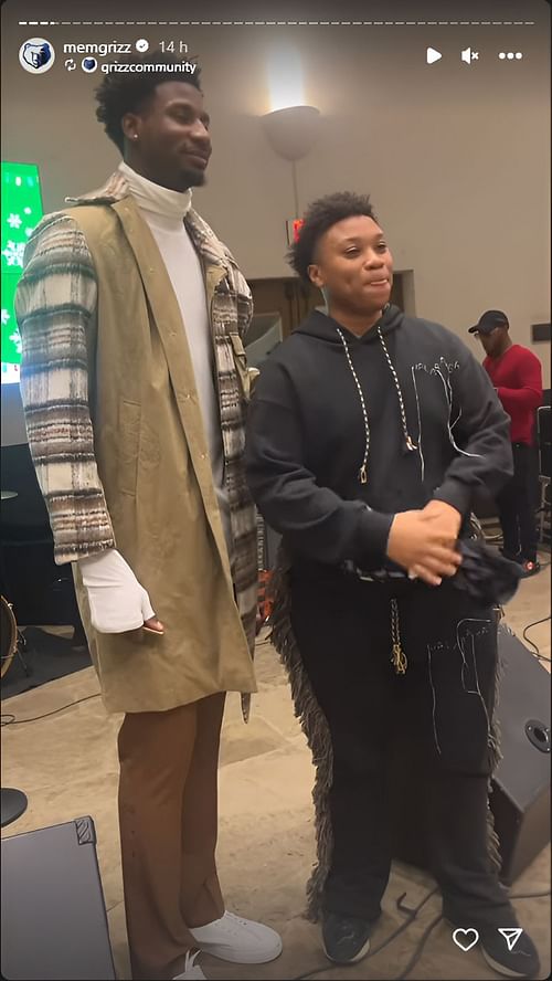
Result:
[[[216,692],[254,692],[187,335],[157,244],[130,198],[72,209],[71,218],[98,279],[87,340],[98,473],[117,548],[166,627],[163,636],[97,633],[75,567],[106,707],[159,711]],[[209,303],[221,275],[205,268]]]

